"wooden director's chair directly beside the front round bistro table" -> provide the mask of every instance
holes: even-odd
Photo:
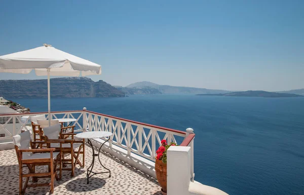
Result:
[[[60,151],[62,153],[62,165],[64,168],[62,168],[63,171],[71,171],[71,176],[75,176],[74,170],[77,165],[80,165],[80,167],[85,167],[85,139],[75,140],[74,139],[74,133],[62,133],[62,130],[65,128],[70,127],[64,127],[61,128],[59,124],[53,125],[50,127],[45,127],[43,129],[44,131],[44,138],[45,141],[55,141],[58,138],[64,138],[65,136],[71,136],[68,139],[61,139],[64,140],[64,143],[62,144],[62,147],[60,147],[59,143],[48,143],[48,148],[55,148],[55,151]],[[56,132],[60,131],[60,134],[57,134]],[[75,151],[75,149],[78,149]],[[70,155],[70,159],[65,159],[65,155]],[[79,156],[82,154],[83,156],[83,162],[81,163],[79,160]],[[71,168],[66,168],[66,165],[70,164]]]

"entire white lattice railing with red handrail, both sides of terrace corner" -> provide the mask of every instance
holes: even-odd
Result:
[[[49,118],[48,112],[0,114],[0,118],[6,119],[5,123],[0,124],[0,134],[2,132],[5,134],[5,137],[0,137],[0,143],[11,142],[12,137],[20,134],[24,129],[31,130],[30,116],[40,114],[46,114],[46,118]],[[76,126],[76,131],[111,132],[109,147],[112,145],[119,146],[126,149],[128,154],[132,152],[150,161],[155,161],[156,150],[161,145],[162,139],[181,144],[192,133],[88,111],[86,108],[83,110],[51,112],[51,119],[66,118],[76,119],[71,124]],[[187,138],[185,139],[185,137]],[[189,146],[193,148],[193,140]]]

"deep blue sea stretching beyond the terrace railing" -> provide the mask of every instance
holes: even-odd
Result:
[[[13,99],[31,112],[47,99]],[[304,98],[136,95],[52,98],[52,111],[88,110],[195,137],[195,180],[229,194],[304,194]]]

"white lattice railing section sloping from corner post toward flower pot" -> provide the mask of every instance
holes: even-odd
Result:
[[[161,140],[177,142],[186,136],[186,132],[144,124],[117,118],[92,111],[84,112],[84,124],[87,131],[108,131],[112,133],[109,144],[125,148],[128,154],[136,153],[155,161],[156,150]],[[178,139],[179,138],[179,139]],[[182,138],[182,139],[180,139]]]

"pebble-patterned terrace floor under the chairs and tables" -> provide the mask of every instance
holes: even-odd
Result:
[[[98,153],[95,148],[95,153]],[[108,173],[94,175],[87,184],[86,170],[92,162],[92,149],[86,145],[86,164],[85,168],[80,169],[79,165],[75,168],[75,177],[70,177],[69,171],[62,171],[62,180],[54,183],[54,194],[161,194],[161,187],[157,180],[144,174],[134,167],[120,161],[108,153],[101,153],[101,162],[111,170],[111,177]],[[58,165],[59,166],[59,165]],[[43,166],[36,170],[45,169]],[[23,168],[27,173],[27,168]],[[98,158],[95,158],[93,171],[103,171]],[[58,171],[59,174],[59,171]],[[50,178],[41,178],[39,183],[49,182]],[[23,178],[23,183],[25,178]],[[31,183],[31,178],[29,184]],[[25,194],[50,194],[50,186],[29,187]],[[19,166],[15,149],[0,150],[0,194],[19,193]]]

